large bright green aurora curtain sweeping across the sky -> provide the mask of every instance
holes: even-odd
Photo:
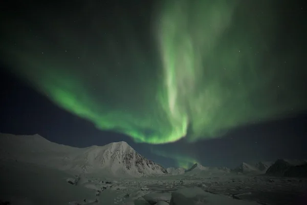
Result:
[[[7,18],[2,60],[60,108],[147,144],[307,109],[300,39],[278,38],[276,2],[165,1],[121,16],[104,6]]]

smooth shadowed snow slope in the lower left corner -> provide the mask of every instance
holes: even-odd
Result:
[[[24,162],[0,161],[0,204],[68,204],[95,199],[92,190],[67,182],[74,176]]]

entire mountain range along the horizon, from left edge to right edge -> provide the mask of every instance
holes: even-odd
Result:
[[[195,163],[190,169],[163,168],[146,159],[126,142],[105,146],[75,148],[59,145],[40,135],[12,135],[0,133],[0,160],[34,163],[75,173],[103,173],[112,176],[150,175],[226,175],[266,174],[269,176],[307,177],[307,160],[278,159],[260,161],[255,165],[243,162],[235,169],[204,167]]]

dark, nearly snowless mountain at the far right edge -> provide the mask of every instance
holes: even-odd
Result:
[[[307,160],[277,159],[266,174],[271,176],[306,177]]]

